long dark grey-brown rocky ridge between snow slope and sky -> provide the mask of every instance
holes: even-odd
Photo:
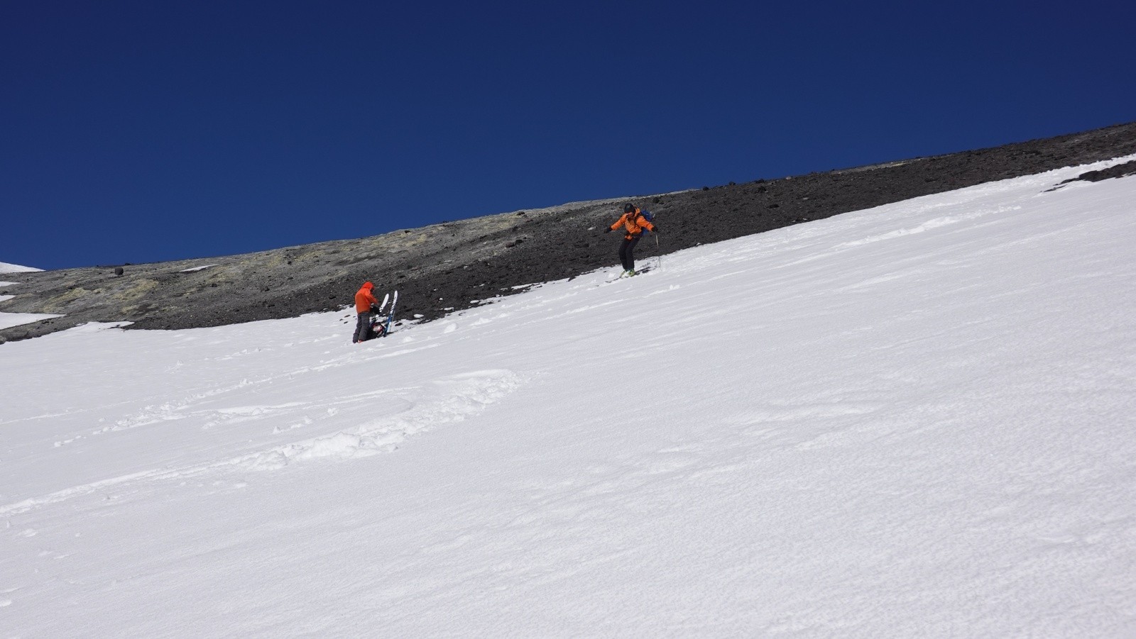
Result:
[[[0,291],[15,295],[0,302],[0,311],[64,317],[0,330],[0,340],[87,321],[176,329],[295,317],[350,304],[366,279],[379,291],[400,291],[401,317],[417,313],[431,320],[526,284],[613,267],[619,234],[601,230],[625,201],[654,211],[662,229],[658,250],[653,241],[641,244],[642,261],[659,251],[1131,153],[1136,123],[885,165],[500,213],[360,239],[124,264],[120,276],[114,266],[2,274],[0,280],[17,284]]]

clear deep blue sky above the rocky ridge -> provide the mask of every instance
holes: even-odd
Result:
[[[243,253],[1136,120],[1134,2],[0,3],[0,261]]]

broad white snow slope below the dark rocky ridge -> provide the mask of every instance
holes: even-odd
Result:
[[[1136,178],[1083,170],[361,345],[7,344],[0,634],[1136,636]]]

